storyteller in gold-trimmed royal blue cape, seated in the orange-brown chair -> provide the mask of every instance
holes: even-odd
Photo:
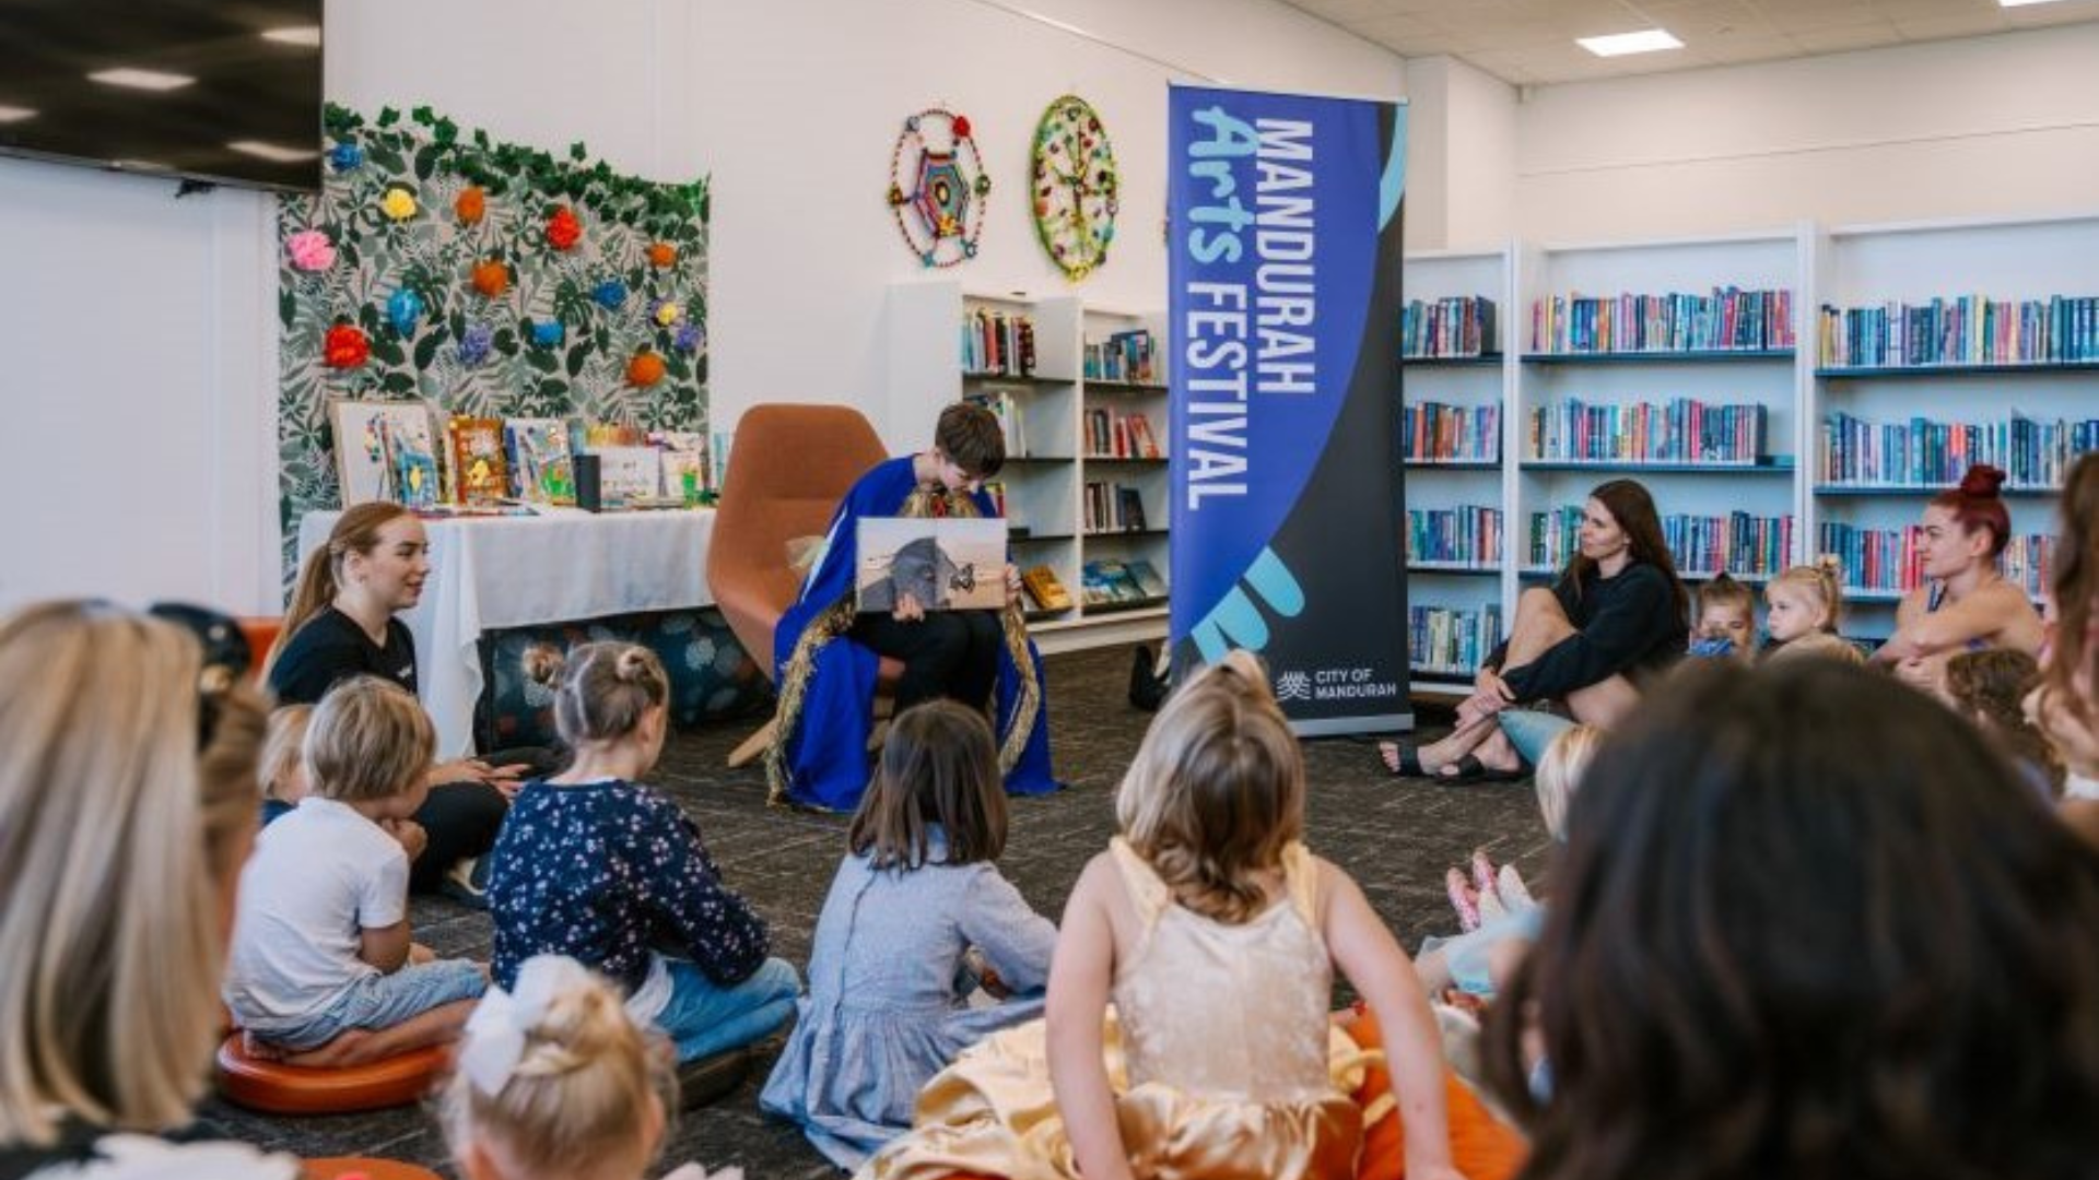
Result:
[[[858,806],[884,655],[905,663],[898,712],[934,697],[989,708],[1008,794],[1058,789],[1041,655],[1029,642],[1012,567],[1001,611],[928,613],[911,594],[886,615],[854,609],[863,517],[991,517],[982,483],[1003,462],[999,420],[980,405],[955,403],[940,412],[932,449],[875,464],[846,493],[802,596],[772,630],[781,691],[779,731],[766,752],[772,802]]]

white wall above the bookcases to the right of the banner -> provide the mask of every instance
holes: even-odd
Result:
[[[2091,210],[2099,25],[1541,86],[1515,204],[1543,241]]]

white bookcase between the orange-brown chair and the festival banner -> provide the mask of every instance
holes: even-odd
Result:
[[[966,325],[980,319],[1024,319],[1033,370],[966,365]],[[1138,332],[1150,332],[1148,357],[1138,351]],[[1050,567],[1073,600],[1068,609],[1029,611],[1037,647],[1163,636],[1165,594],[1087,603],[1085,571],[1089,563],[1142,561],[1161,580],[1169,575],[1165,315],[1089,307],[1068,294],[900,281],[888,290],[886,338],[890,447],[926,445],[940,407],[961,397],[984,403],[1005,426],[995,491],[1014,529],[1014,565]]]

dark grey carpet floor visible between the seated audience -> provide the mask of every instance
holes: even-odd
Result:
[[[1127,647],[1047,659],[1052,750],[1068,787],[1014,800],[999,867],[1052,918],[1062,911],[1079,869],[1106,848],[1115,831],[1115,787],[1150,720],[1125,703],[1127,674]],[[1419,720],[1427,735],[1448,726],[1448,714],[1429,712]],[[724,768],[728,750],[756,724],[756,718],[720,722],[674,735],[653,783],[699,823],[728,884],[770,922],[772,953],[804,968],[846,821],[772,810],[764,802],[762,768]],[[1497,863],[1515,861],[1526,878],[1545,867],[1549,840],[1528,783],[1450,787],[1394,779],[1362,739],[1310,741],[1306,762],[1312,785],[1308,844],[1362,884],[1408,951],[1425,934],[1455,928],[1444,901],[1444,867],[1463,863],[1476,846]],[[489,922],[476,911],[418,899],[414,924],[418,941],[439,953],[489,955]],[[737,1094],[678,1117],[655,1174],[691,1159],[709,1170],[741,1165],[754,1180],[840,1176],[798,1130],[758,1113],[758,1088],[775,1052],[777,1044],[764,1046],[758,1069]],[[376,1155],[455,1176],[426,1109],[285,1119],[212,1100],[202,1113],[233,1138],[302,1157]]]

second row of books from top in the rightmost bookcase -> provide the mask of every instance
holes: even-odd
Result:
[[[1872,422],[1832,412],[1822,418],[1822,483],[1950,487],[1973,464],[2005,468],[2009,487],[2061,487],[2084,451],[2099,449],[2099,418],[1996,422]]]

